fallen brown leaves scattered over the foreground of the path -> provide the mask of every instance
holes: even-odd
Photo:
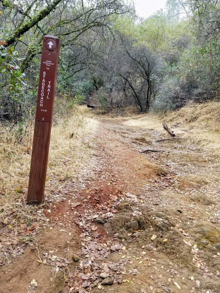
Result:
[[[153,160],[156,160],[157,156],[158,154],[149,155],[149,157],[151,157]],[[110,162],[108,164],[110,164]],[[95,172],[98,174],[97,170],[98,167],[96,166]],[[109,174],[112,173],[112,170],[108,166],[107,168],[104,168],[102,174],[104,174],[106,171],[108,171]],[[106,177],[110,177],[110,175],[107,175]],[[109,188],[111,188],[111,186],[117,182],[115,180],[107,180],[106,178],[100,178],[100,180],[106,180],[108,182],[107,185]],[[100,181],[96,178],[96,182]],[[173,225],[174,227],[170,227],[170,231],[175,231],[177,234],[178,230],[178,233],[181,234],[182,238],[179,236],[179,239],[183,243],[182,245],[186,246],[186,251],[189,251],[190,256],[188,259],[191,259],[194,268],[197,270],[194,274],[194,278],[192,278],[192,271],[187,272],[185,269],[183,269],[184,266],[177,265],[175,261],[171,261],[172,258],[167,258],[167,264],[161,265],[160,261],[157,261],[156,257],[151,259],[152,256],[150,258],[148,256],[148,254],[157,255],[157,251],[160,251],[162,247],[164,248],[164,245],[170,245],[170,243],[173,242],[171,234],[166,234],[167,230],[164,229],[164,227],[169,224],[170,219],[167,219],[168,217],[166,218],[164,214],[157,215],[157,213],[161,213],[161,211],[163,212],[165,210],[163,201],[166,202],[167,200],[166,196],[163,195],[161,190],[166,190],[166,188],[173,188],[175,184],[176,174],[174,175],[171,172],[171,174],[168,174],[167,177],[161,177],[159,180],[149,179],[145,189],[147,196],[146,194],[132,194],[135,193],[132,190],[132,192],[129,193],[115,192],[115,195],[114,192],[112,192],[114,197],[110,198],[108,196],[108,198],[106,198],[105,189],[100,191],[100,186],[98,186],[97,183],[95,184],[94,182],[91,182],[90,185],[85,187],[85,196],[81,198],[82,200],[80,200],[80,202],[77,196],[75,197],[75,199],[77,199],[76,205],[74,205],[74,202],[69,202],[69,206],[71,207],[70,209],[74,213],[75,223],[78,225],[78,227],[80,227],[81,230],[81,251],[77,254],[79,259],[77,260],[76,257],[76,260],[74,260],[77,263],[75,271],[68,272],[67,268],[70,260],[57,255],[57,251],[54,250],[44,251],[43,256],[41,259],[39,259],[39,262],[42,262],[45,265],[49,265],[55,268],[57,271],[64,271],[65,281],[68,285],[69,292],[91,292],[95,287],[101,290],[104,289],[106,285],[110,285],[112,283],[123,283],[130,285],[134,283],[137,286],[141,286],[142,283],[138,285],[138,281],[136,279],[130,279],[128,274],[135,277],[136,275],[139,275],[143,272],[143,268],[146,270],[149,267],[150,271],[155,271],[157,273],[154,274],[152,272],[148,275],[148,279],[151,280],[152,283],[149,283],[146,288],[141,288],[141,292],[150,292],[150,290],[154,292],[154,290],[157,290],[158,288],[163,289],[164,292],[173,292],[172,284],[175,285],[177,289],[181,288],[182,290],[185,290],[184,286],[187,280],[187,282],[191,282],[189,285],[187,285],[187,288],[190,287],[191,292],[197,292],[195,290],[199,288],[202,293],[215,293],[215,289],[212,288],[207,288],[207,290],[204,291],[201,288],[203,286],[203,282],[198,280],[198,276],[202,276],[203,280],[206,278],[210,279],[210,277],[214,279],[219,276],[219,273],[218,271],[214,272],[213,269],[210,269],[208,264],[204,261],[203,250],[195,243],[195,239],[190,233],[190,226],[186,221],[184,221],[183,217],[184,213],[187,211],[187,205],[185,205],[185,209],[179,209],[179,207],[176,207],[177,211],[182,211],[181,213],[177,212],[177,215],[175,213],[171,214],[169,212],[168,214],[169,218],[173,222],[176,222],[176,225]],[[155,195],[160,192],[159,198],[158,196],[153,196],[153,192]],[[191,194],[191,191],[186,192]],[[99,193],[100,197],[97,197],[97,194]],[[149,197],[149,194],[151,197]],[[146,199],[148,201],[148,210],[152,210],[152,214],[148,217],[147,222],[149,225],[149,231],[137,230],[128,232],[128,239],[123,238],[118,241],[116,235],[118,233],[116,233],[112,238],[108,233],[106,233],[106,231],[103,231],[105,230],[105,228],[102,228],[103,226],[100,227],[100,225],[109,223],[111,218],[114,217],[116,212],[116,204],[119,201],[127,200],[136,204],[137,206],[135,210],[132,210],[132,216],[135,217],[143,214],[141,209],[143,206],[146,206]],[[177,205],[176,201],[171,202],[171,204],[173,206]],[[192,209],[190,204],[189,208],[190,210]],[[208,212],[209,211],[210,209],[208,209]],[[39,210],[38,213],[44,216],[43,210]],[[219,221],[219,214],[216,212],[216,210],[214,217],[213,215],[208,215],[208,217],[210,220]],[[186,218],[187,221],[194,220],[193,218],[196,218],[196,215],[193,214],[193,216],[190,215],[189,217],[186,215]],[[96,219],[98,219],[99,222],[96,222]],[[5,225],[7,224],[8,222],[5,221]],[[47,219],[45,224],[48,225]],[[11,223],[8,225],[11,225]],[[155,227],[157,227],[157,229],[155,229]],[[160,227],[160,229],[158,229],[158,227]],[[7,229],[10,229],[10,226],[8,226]],[[148,241],[143,242],[143,236]],[[129,247],[132,245],[132,243],[135,243],[134,241],[139,242],[138,245],[140,246],[140,250],[138,253],[135,251],[130,251]],[[142,252],[146,253],[142,254]],[[20,251],[20,253],[22,252]],[[117,261],[110,261],[111,254],[119,254]],[[147,255],[146,257],[145,254]],[[217,253],[214,256],[216,256],[214,258],[219,257]],[[136,263],[138,263],[136,268],[129,267],[129,265],[133,266]],[[127,274],[126,277],[125,274]],[[101,277],[103,275],[105,275],[106,278],[103,279]],[[175,282],[173,281],[174,278]],[[102,283],[105,279],[107,279],[106,285],[103,285]],[[195,287],[197,289],[195,289]]]

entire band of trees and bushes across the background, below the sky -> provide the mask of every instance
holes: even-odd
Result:
[[[167,0],[147,19],[129,0],[0,0],[0,12],[1,120],[33,114],[48,33],[62,42],[60,115],[76,103],[165,111],[220,95],[220,0]]]

